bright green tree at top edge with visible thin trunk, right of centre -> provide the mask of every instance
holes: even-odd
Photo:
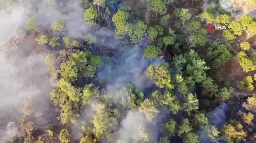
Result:
[[[157,13],[166,14],[166,4],[162,0],[151,0],[151,10],[156,13],[155,21],[157,21]]]

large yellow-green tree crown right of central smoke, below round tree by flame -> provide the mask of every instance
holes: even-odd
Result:
[[[173,89],[174,85],[171,83],[171,77],[167,67],[160,65],[160,66],[152,66],[150,65],[147,68],[146,77],[155,80],[155,84],[163,88],[166,86],[169,89]]]

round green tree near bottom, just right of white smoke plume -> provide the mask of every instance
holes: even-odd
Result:
[[[162,132],[164,137],[175,136],[177,133],[177,123],[173,119],[164,121]]]

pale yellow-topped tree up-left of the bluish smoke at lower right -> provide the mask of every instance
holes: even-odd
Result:
[[[183,104],[185,111],[188,112],[190,115],[190,112],[193,109],[198,109],[199,108],[199,101],[196,98],[196,95],[193,95],[192,93],[189,93],[186,97],[186,103]]]

